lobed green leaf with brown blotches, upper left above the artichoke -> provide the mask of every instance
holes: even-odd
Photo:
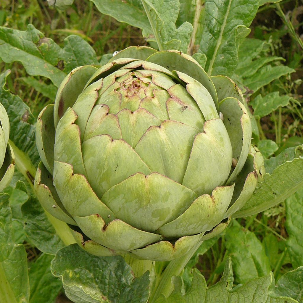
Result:
[[[0,58],[21,62],[29,75],[49,78],[57,87],[75,67],[98,64],[95,51],[79,36],[68,36],[60,48],[32,24],[26,31],[0,27]]]

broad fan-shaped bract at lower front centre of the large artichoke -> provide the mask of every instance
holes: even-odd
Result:
[[[181,215],[196,198],[190,189],[154,172],[132,175],[105,192],[102,201],[117,218],[153,232]]]

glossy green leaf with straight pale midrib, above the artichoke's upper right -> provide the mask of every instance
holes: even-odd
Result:
[[[230,75],[238,64],[239,39],[246,37],[258,10],[255,0],[206,0],[200,50],[208,75]]]

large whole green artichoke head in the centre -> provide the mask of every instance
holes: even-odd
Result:
[[[221,232],[262,174],[244,104],[175,50],[75,68],[38,117],[37,196],[94,255],[178,258]]]

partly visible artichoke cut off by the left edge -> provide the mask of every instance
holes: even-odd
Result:
[[[4,106],[0,103],[0,191],[2,191],[14,175],[15,157],[12,147],[8,144],[9,120]]]

